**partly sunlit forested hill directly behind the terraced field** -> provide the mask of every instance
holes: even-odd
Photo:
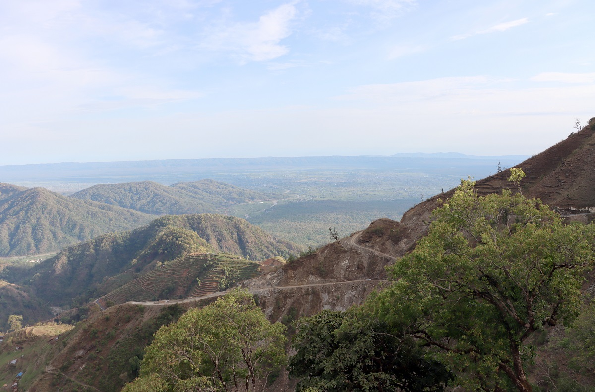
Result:
[[[143,274],[159,263],[189,253],[225,252],[264,260],[299,250],[291,243],[275,240],[245,219],[217,214],[166,215],[133,231],[106,234],[67,247],[32,268],[22,281],[32,280],[38,297],[65,305],[76,297],[84,302],[95,296],[98,285],[109,277],[123,272]],[[118,280],[121,285],[129,281],[126,274]]]

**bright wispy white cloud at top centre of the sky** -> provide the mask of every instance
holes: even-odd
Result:
[[[199,46],[229,52],[241,62],[269,61],[289,52],[281,40],[291,35],[291,24],[297,14],[295,3],[288,3],[267,12],[254,23],[221,24],[206,33]]]

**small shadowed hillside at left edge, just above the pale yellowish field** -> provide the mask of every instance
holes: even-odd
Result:
[[[52,317],[41,300],[27,294],[22,287],[0,280],[0,331],[8,330],[10,315],[22,315],[23,325]]]

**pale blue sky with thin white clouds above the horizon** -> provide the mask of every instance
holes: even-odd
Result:
[[[595,117],[592,0],[0,0],[0,165],[533,155]]]

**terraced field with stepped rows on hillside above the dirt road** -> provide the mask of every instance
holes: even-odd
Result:
[[[228,253],[192,253],[180,260],[158,266],[146,274],[118,275],[106,286],[132,279],[121,287],[101,297],[98,302],[104,308],[129,301],[155,301],[203,296],[226,290],[237,282],[259,274],[260,264]]]

